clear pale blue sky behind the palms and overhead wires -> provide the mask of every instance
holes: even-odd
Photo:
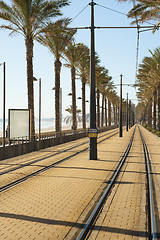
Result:
[[[10,2],[5,1],[5,2]],[[70,27],[89,27],[90,11],[88,5],[90,0],[71,0],[68,7],[62,9],[63,16],[72,18]],[[95,0],[95,26],[131,26],[131,19],[119,14],[119,11],[127,14],[131,9],[131,3],[118,3],[116,0]],[[115,11],[111,11],[110,8]],[[83,10],[84,9],[84,10]],[[82,11],[83,10],[83,11]],[[82,11],[82,12],[81,12]],[[81,12],[81,13],[80,13]],[[80,14],[79,14],[80,13]],[[78,15],[79,14],[79,15]],[[78,16],[77,16],[78,15]],[[77,16],[77,17],[76,17]],[[57,20],[57,19],[53,19]],[[2,24],[2,21],[0,21]],[[145,25],[149,25],[146,23]],[[26,55],[25,42],[21,35],[9,36],[8,30],[0,30],[0,63],[6,62],[6,117],[8,109],[27,108],[27,77],[26,77]],[[90,48],[90,30],[78,30],[75,36],[76,43],[84,43]],[[144,56],[149,56],[149,49],[154,50],[160,46],[160,32],[152,31],[140,33],[139,63]],[[135,83],[136,73],[136,29],[96,29],[95,50],[101,60],[100,65],[109,70],[114,84],[120,82],[123,74],[124,84]],[[34,76],[42,79],[42,117],[55,117],[54,111],[54,57],[49,50],[34,42]],[[62,88],[62,113],[67,115],[65,109],[71,105],[71,74],[70,69],[64,66],[62,61],[61,88]],[[2,118],[2,96],[3,96],[3,65],[0,66],[0,118]],[[119,95],[119,86],[117,86]],[[135,88],[123,86],[123,98],[129,94],[129,99],[137,104]],[[38,117],[38,82],[34,82],[35,117]],[[76,80],[76,97],[81,96],[81,81]],[[86,87],[86,99],[89,100],[89,86]],[[81,100],[77,100],[77,106],[81,109]],[[89,103],[86,103],[87,113]]]

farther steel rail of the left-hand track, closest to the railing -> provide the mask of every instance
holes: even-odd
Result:
[[[117,130],[116,130],[116,131],[113,131],[113,132],[116,132],[115,134],[118,133]],[[104,134],[104,135],[100,136],[99,138],[105,137],[105,136],[107,136],[107,135],[109,135],[109,134],[110,134],[110,133]],[[112,136],[114,136],[115,134],[113,134]],[[73,146],[73,147],[67,148],[67,149],[65,149],[65,150],[61,150],[61,151],[59,151],[59,152],[57,152],[57,153],[54,153],[54,154],[51,154],[51,155],[49,155],[49,156],[46,156],[46,157],[42,157],[42,158],[33,160],[33,161],[31,161],[31,162],[28,162],[28,163],[24,163],[24,164],[21,163],[21,165],[19,165],[19,166],[17,166],[17,167],[14,167],[14,168],[5,170],[5,171],[3,171],[3,172],[0,172],[0,176],[2,176],[2,175],[4,175],[4,174],[7,174],[7,173],[10,173],[10,172],[13,172],[13,171],[16,171],[16,170],[21,169],[21,168],[23,168],[23,167],[27,167],[27,166],[29,166],[29,165],[31,165],[31,164],[34,164],[34,163],[43,161],[43,160],[48,159],[48,158],[50,158],[50,157],[54,157],[54,156],[59,155],[59,154],[61,154],[61,153],[70,151],[70,150],[72,150],[72,149],[74,149],[74,148],[76,148],[76,147],[82,146],[82,145],[84,145],[84,144],[86,144],[86,143],[88,143],[88,141],[86,141],[86,142],[84,142],[84,143],[81,143],[81,144],[78,144],[78,145],[75,145],[75,146]]]

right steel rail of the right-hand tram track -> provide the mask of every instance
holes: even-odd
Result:
[[[149,153],[148,148],[146,145],[146,142],[143,138],[142,132],[139,128],[141,140],[143,143],[143,149],[144,149],[144,156],[146,160],[146,171],[147,171],[147,181],[148,181],[148,195],[149,195],[149,210],[150,210],[150,226],[151,226],[151,239],[157,240],[160,239],[158,237],[158,226],[156,224],[156,212],[154,208],[154,197],[153,197],[153,187],[152,187],[152,177],[151,177],[151,167],[150,167],[150,159],[149,159]]]

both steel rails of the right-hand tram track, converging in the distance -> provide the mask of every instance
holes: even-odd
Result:
[[[141,136],[141,141],[143,144],[145,164],[146,164],[147,191],[148,191],[148,193],[147,193],[148,203],[147,204],[149,206],[149,211],[147,213],[148,214],[148,220],[147,220],[148,234],[147,235],[148,235],[149,240],[151,240],[151,239],[157,240],[157,239],[160,239],[160,234],[158,233],[159,223],[156,219],[156,210],[155,210],[155,206],[154,206],[153,179],[152,179],[151,163],[150,163],[150,159],[149,159],[149,152],[147,149],[147,145],[145,143],[145,140],[143,138],[142,132],[140,131],[139,127],[138,127],[138,130],[139,130],[139,133]],[[111,177],[111,180],[109,181],[110,183],[108,184],[105,192],[103,193],[102,197],[99,199],[98,204],[95,206],[95,208],[93,209],[90,216],[88,216],[88,219],[86,220],[86,222],[83,224],[82,231],[78,233],[78,235],[77,235],[78,237],[76,237],[76,239],[78,239],[78,240],[89,239],[89,236],[91,235],[92,230],[94,229],[97,218],[99,217],[99,214],[102,211],[104,204],[106,204],[107,198],[111,194],[111,191],[112,191],[113,187],[115,186],[115,181],[116,181],[117,177],[119,176],[119,173],[127,159],[127,156],[132,147],[134,134],[135,134],[135,129],[134,129],[133,135],[131,137],[130,143],[129,143],[119,165],[117,166],[117,169],[115,170],[115,174],[113,174],[113,176]],[[123,170],[123,172],[125,172],[125,170]]]

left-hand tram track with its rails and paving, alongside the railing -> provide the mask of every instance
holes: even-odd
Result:
[[[101,143],[101,142],[103,142],[103,141],[105,141],[105,140],[107,140],[107,139],[115,136],[117,133],[118,133],[118,131],[117,131],[117,130],[114,130],[114,131],[111,131],[111,132],[109,132],[109,133],[103,134],[102,136],[100,136],[100,137],[98,138],[98,143],[97,143],[97,144],[99,144],[99,143]],[[81,150],[75,151],[75,152],[74,152],[73,150],[76,149],[76,148],[78,148],[78,147],[80,147],[80,146],[84,146],[84,145],[87,144],[87,143],[88,143],[88,141],[85,141],[85,142],[83,142],[83,143],[81,143],[81,144],[77,144],[77,145],[72,146],[72,147],[69,147],[69,148],[67,148],[67,149],[58,151],[58,152],[56,152],[56,153],[54,153],[54,154],[52,153],[52,154],[50,154],[50,155],[48,155],[48,156],[44,156],[44,157],[38,158],[38,159],[36,159],[36,160],[32,160],[32,161],[30,161],[30,162],[28,162],[28,163],[25,163],[25,164],[22,164],[22,163],[20,164],[20,163],[19,163],[19,165],[16,166],[16,167],[14,167],[14,168],[7,169],[7,170],[5,170],[5,171],[1,171],[1,172],[0,172],[0,176],[1,176],[1,177],[4,176],[4,175],[7,175],[7,174],[11,174],[11,173],[14,174],[14,172],[16,172],[17,170],[21,170],[21,169],[23,169],[23,168],[25,168],[25,167],[30,167],[30,166],[33,167],[33,166],[36,166],[36,165],[33,165],[33,164],[35,164],[35,163],[40,163],[40,162],[42,162],[42,161],[44,161],[44,160],[50,159],[50,158],[52,158],[52,157],[54,157],[54,156],[56,157],[56,156],[58,156],[58,155],[61,155],[61,154],[66,153],[66,152],[69,153],[68,156],[62,157],[61,159],[59,159],[58,161],[55,161],[55,162],[52,163],[52,164],[49,164],[49,165],[46,165],[46,166],[44,166],[44,165],[37,165],[37,167],[41,167],[41,169],[38,169],[38,170],[36,170],[36,171],[33,171],[33,172],[31,172],[30,174],[27,174],[27,175],[24,176],[24,177],[21,177],[21,178],[19,178],[19,179],[13,180],[12,182],[9,182],[9,183],[5,184],[4,186],[1,186],[1,187],[0,187],[0,192],[2,193],[3,191],[5,191],[5,190],[7,190],[7,189],[9,189],[9,188],[11,188],[11,187],[13,187],[13,186],[16,186],[17,184],[20,184],[20,183],[26,181],[27,179],[29,179],[29,178],[31,178],[31,177],[33,177],[33,176],[36,176],[36,175],[38,175],[38,174],[40,174],[40,173],[42,173],[42,172],[45,172],[45,171],[47,171],[47,170],[49,170],[49,169],[51,169],[51,168],[59,165],[60,163],[62,163],[62,162],[64,162],[64,161],[66,161],[66,160],[68,160],[68,159],[70,159],[70,158],[72,158],[72,157],[74,157],[74,156],[76,156],[76,155],[78,155],[78,154],[86,151],[86,150],[88,149],[88,146],[87,146],[87,147],[84,147],[84,148],[81,149]]]

